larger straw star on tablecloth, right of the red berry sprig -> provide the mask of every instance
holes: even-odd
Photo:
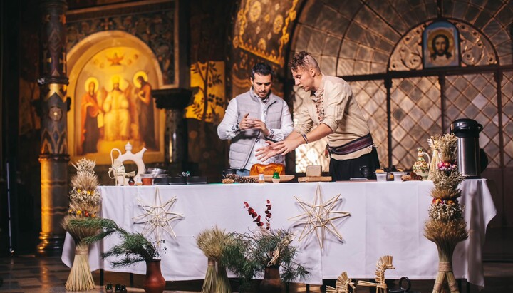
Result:
[[[304,223],[304,228],[301,231],[298,241],[303,240],[312,232],[315,232],[322,250],[324,239],[326,239],[326,230],[335,235],[339,240],[343,241],[342,236],[338,233],[336,227],[331,221],[341,217],[349,217],[351,216],[351,213],[332,210],[338,200],[338,197],[340,197],[340,193],[332,197],[331,200],[323,202],[321,188],[319,185],[317,185],[314,203],[307,203],[296,197],[296,200],[303,208],[304,213],[291,217],[289,220]]]

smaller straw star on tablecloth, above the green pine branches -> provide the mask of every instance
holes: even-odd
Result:
[[[146,237],[148,235],[154,235],[157,245],[162,241],[162,232],[167,232],[170,235],[176,237],[175,231],[172,229],[170,222],[172,220],[182,218],[182,214],[176,212],[170,212],[170,208],[177,201],[176,197],[167,200],[162,204],[162,197],[160,197],[160,190],[158,187],[155,190],[155,200],[153,205],[142,201],[140,198],[137,199],[144,214],[133,217],[134,224],[144,224],[142,228],[142,235]],[[163,231],[162,231],[163,230]]]

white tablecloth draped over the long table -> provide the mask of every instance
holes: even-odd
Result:
[[[290,228],[298,237],[297,261],[309,270],[308,284],[322,284],[322,279],[336,279],[346,271],[353,279],[375,277],[375,263],[383,255],[393,255],[394,270],[385,272],[388,279],[435,279],[438,268],[437,248],[424,237],[424,223],[432,197],[431,181],[410,182],[340,182],[340,183],[252,183],[232,185],[102,186],[102,217],[110,218],[130,232],[141,232],[144,225],[134,225],[142,215],[142,202],[153,204],[160,192],[162,202],[176,197],[170,211],[183,214],[171,222],[176,237],[165,234],[167,251],[162,257],[162,274],[168,281],[203,279],[207,258],[197,247],[195,236],[214,227],[227,232],[249,232],[256,225],[243,202],[264,215],[266,200],[272,204],[271,228]],[[496,215],[486,180],[465,180],[460,203],[465,206],[469,237],[460,242],[454,253],[453,269],[457,279],[467,279],[484,287],[482,245],[487,224]],[[299,242],[304,228],[290,220],[304,214],[298,200],[314,204],[316,191],[320,202],[340,194],[333,211],[347,211],[350,217],[333,220],[343,237],[338,240],[326,231],[321,249],[314,233]],[[139,201],[138,201],[139,199]],[[145,264],[113,269],[112,259],[101,259],[100,252],[115,245],[117,237],[90,246],[90,269],[145,274]],[[62,260],[71,267],[74,243],[67,235]]]

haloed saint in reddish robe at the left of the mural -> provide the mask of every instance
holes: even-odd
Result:
[[[98,106],[98,80],[90,77],[86,81],[86,93],[81,100],[81,141],[78,153],[96,153],[96,145],[100,139],[100,130],[98,129],[98,114],[101,109]]]

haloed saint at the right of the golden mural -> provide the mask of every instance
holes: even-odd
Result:
[[[139,113],[140,138],[145,143],[146,148],[156,149],[152,86],[147,82],[145,73],[137,73],[134,83],[135,86],[138,86],[135,95],[137,96],[136,105]]]

